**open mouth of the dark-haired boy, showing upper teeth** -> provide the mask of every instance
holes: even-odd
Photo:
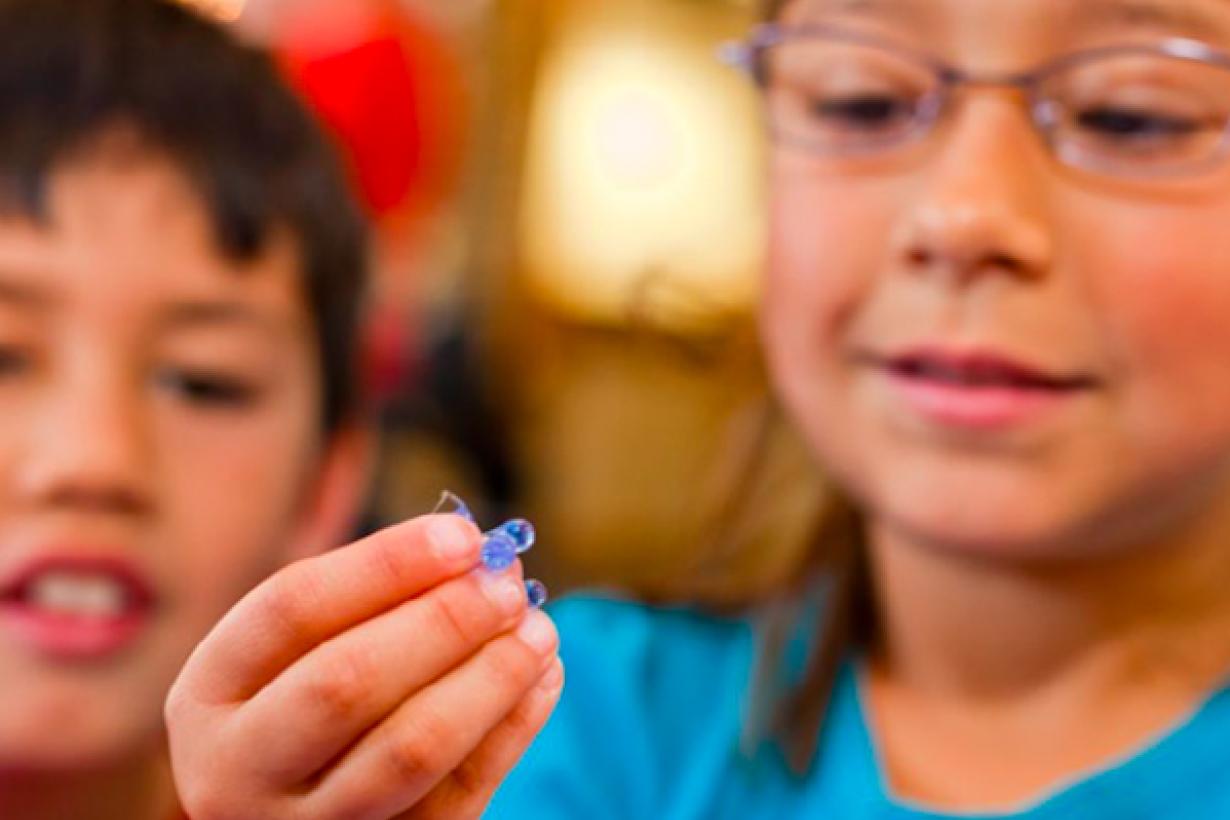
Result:
[[[38,654],[86,660],[129,645],[148,623],[150,585],[125,562],[46,558],[0,585],[0,625]]]

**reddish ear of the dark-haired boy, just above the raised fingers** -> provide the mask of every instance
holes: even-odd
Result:
[[[330,434],[305,486],[304,507],[287,563],[342,546],[353,535],[370,489],[376,454],[371,425],[346,423]]]

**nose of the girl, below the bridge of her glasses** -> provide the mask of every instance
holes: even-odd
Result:
[[[1038,278],[1052,263],[1046,215],[1049,160],[1018,103],[970,98],[941,134],[903,211],[894,256],[903,269],[969,284],[983,274]]]

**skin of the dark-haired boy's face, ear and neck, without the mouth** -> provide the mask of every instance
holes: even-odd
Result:
[[[118,557],[156,609],[89,661],[0,634],[0,815],[162,819],[172,680],[240,596],[344,534],[365,436],[321,435],[285,237],[224,258],[176,167],[123,134],[57,171],[47,203],[0,221],[0,570]]]

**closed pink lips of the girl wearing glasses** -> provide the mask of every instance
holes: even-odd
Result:
[[[985,352],[915,348],[866,363],[887,377],[893,393],[934,424],[969,430],[1021,427],[1070,400],[1097,380]]]

